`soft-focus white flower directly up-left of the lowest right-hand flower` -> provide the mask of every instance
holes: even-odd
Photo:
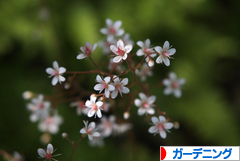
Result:
[[[138,115],[143,115],[145,113],[148,113],[150,115],[153,115],[155,113],[154,108],[152,108],[154,105],[153,103],[156,100],[156,96],[150,96],[147,97],[144,93],[139,93],[140,99],[135,99],[134,104],[139,107],[138,109]]]

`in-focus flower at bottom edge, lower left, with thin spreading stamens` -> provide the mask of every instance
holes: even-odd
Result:
[[[49,143],[47,145],[47,150],[42,149],[42,148],[38,148],[37,152],[38,152],[38,155],[40,155],[40,158],[46,158],[47,161],[50,161],[50,160],[55,160],[56,161],[56,159],[54,159],[52,157],[59,156],[61,154],[52,155],[52,153],[55,150],[53,149],[53,145]]]

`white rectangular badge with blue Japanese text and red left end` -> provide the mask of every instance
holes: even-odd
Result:
[[[239,160],[239,146],[160,146],[160,160]]]

